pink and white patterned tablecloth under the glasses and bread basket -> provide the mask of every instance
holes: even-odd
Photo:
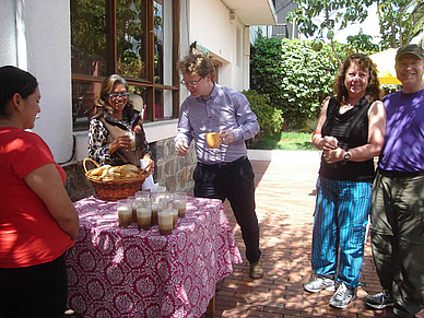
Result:
[[[89,197],[74,207],[68,306],[84,317],[200,317],[216,282],[242,262],[220,200],[188,198],[186,217],[167,236],[157,225],[118,227],[116,202]]]

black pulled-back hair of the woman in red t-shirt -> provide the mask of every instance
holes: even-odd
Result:
[[[38,87],[37,79],[16,67],[0,68],[0,115],[5,114],[5,104],[14,94],[28,97]]]

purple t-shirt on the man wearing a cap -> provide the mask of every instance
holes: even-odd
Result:
[[[424,170],[424,90],[401,91],[384,98],[387,111],[385,144],[378,166],[384,170]]]

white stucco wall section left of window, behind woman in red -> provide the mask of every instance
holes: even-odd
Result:
[[[68,161],[73,143],[69,1],[2,0],[0,12],[0,64],[21,67],[37,78],[42,113],[34,132],[57,162]]]

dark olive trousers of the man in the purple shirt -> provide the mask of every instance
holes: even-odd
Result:
[[[399,317],[413,317],[424,308],[423,229],[424,175],[387,176],[378,170],[373,189],[373,257]]]

